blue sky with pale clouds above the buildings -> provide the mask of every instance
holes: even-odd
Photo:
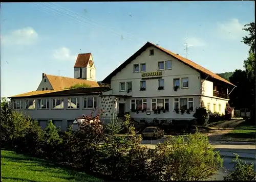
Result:
[[[147,41],[216,72],[243,69],[254,2],[1,3],[1,97],[36,90],[42,72],[73,77],[91,52],[100,81]]]

